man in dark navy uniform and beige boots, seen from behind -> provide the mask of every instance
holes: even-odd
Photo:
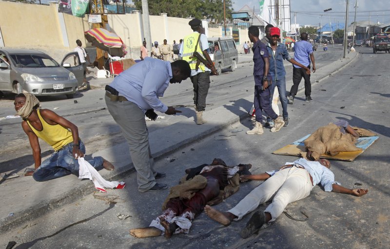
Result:
[[[279,116],[271,108],[271,84],[272,80],[268,76],[270,61],[267,47],[259,39],[259,29],[256,26],[251,26],[248,29],[248,36],[252,47],[254,61],[254,109],[256,114],[256,124],[252,130],[247,131],[247,134],[263,134],[263,110],[270,117],[275,125],[271,131],[279,131],[284,125],[283,117]]]

